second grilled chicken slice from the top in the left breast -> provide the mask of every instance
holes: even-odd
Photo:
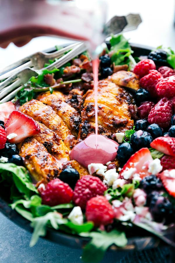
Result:
[[[34,118],[34,120],[45,124],[49,129],[55,131],[61,139],[65,139],[67,147],[71,146],[71,142],[67,140],[67,137],[71,135],[70,130],[63,122],[62,118],[60,118],[50,106],[45,105],[41,101],[32,99],[24,103],[19,110]]]

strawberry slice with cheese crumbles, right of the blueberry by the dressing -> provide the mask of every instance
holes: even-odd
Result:
[[[150,175],[148,173],[148,165],[153,161],[148,148],[141,148],[139,151],[134,153],[123,168],[120,171],[120,177],[123,178],[124,172],[127,172],[130,168],[135,168],[134,174],[139,174],[141,178]]]

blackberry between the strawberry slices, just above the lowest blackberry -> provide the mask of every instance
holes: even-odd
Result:
[[[155,175],[149,175],[144,177],[140,181],[139,187],[142,188],[146,193],[150,193],[154,190],[160,191],[163,189],[161,180]]]

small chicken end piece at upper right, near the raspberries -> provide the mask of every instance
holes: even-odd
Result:
[[[120,70],[109,77],[117,85],[127,87],[134,91],[140,89],[139,77],[131,71]]]

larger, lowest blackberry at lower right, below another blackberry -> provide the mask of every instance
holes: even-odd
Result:
[[[162,222],[165,225],[173,223],[175,220],[175,208],[167,197],[154,195],[150,202],[150,213],[154,221]]]

